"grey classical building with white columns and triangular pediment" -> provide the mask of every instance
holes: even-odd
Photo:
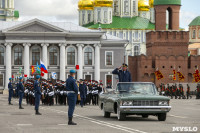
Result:
[[[70,69],[77,79],[102,80],[104,85],[117,82],[112,70],[124,62],[127,41],[98,30],[90,30],[68,22],[0,22],[0,88],[19,74],[31,76],[31,66],[40,59],[51,72],[65,81]],[[109,82],[108,82],[109,81]]]

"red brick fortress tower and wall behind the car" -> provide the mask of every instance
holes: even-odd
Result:
[[[200,65],[200,56],[188,57],[189,32],[179,30],[181,0],[155,0],[156,31],[147,36],[147,55],[129,56],[129,68],[133,81],[161,83],[194,83],[193,73]],[[166,30],[166,10],[170,11],[169,29]],[[157,80],[155,71],[164,78]],[[184,81],[173,80],[173,70],[181,72]]]

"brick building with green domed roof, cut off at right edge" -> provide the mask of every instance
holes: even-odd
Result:
[[[190,32],[190,55],[200,55],[200,16],[196,17],[189,24]]]

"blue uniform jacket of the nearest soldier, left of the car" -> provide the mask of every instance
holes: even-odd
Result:
[[[76,80],[72,76],[66,80],[66,90],[74,91],[76,94],[78,94],[78,86],[76,84]]]

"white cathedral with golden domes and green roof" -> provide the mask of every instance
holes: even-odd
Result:
[[[155,30],[154,0],[80,0],[79,25],[129,40],[126,56],[146,55],[146,33]]]

